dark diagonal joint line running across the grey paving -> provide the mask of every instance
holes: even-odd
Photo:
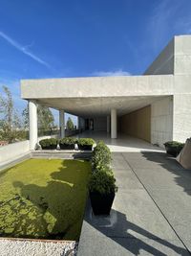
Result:
[[[172,226],[172,224],[170,223],[170,221],[168,221],[168,219],[165,217],[165,215],[163,214],[163,212],[161,211],[161,209],[159,208],[158,203],[156,202],[156,200],[151,196],[151,194],[149,193],[149,191],[147,190],[147,188],[144,186],[143,182],[140,180],[140,178],[138,177],[138,175],[136,174],[136,172],[134,171],[134,168],[129,164],[129,162],[126,160],[126,158],[124,157],[123,153],[121,152],[122,157],[124,159],[124,161],[128,164],[128,166],[131,168],[132,172],[137,176],[138,181],[142,184],[143,188],[145,189],[145,191],[147,192],[147,194],[149,195],[149,197],[153,200],[153,202],[155,203],[155,205],[158,207],[159,212],[161,213],[161,215],[163,216],[163,218],[168,222],[168,224],[170,225],[170,227],[172,228],[172,230],[175,232],[175,234],[177,235],[177,237],[180,239],[180,242],[184,245],[184,247],[186,248],[186,250],[188,251],[188,253],[191,255],[191,252],[189,251],[189,249],[187,248],[187,246],[184,244],[184,242],[181,240],[180,235],[177,233],[177,231],[174,229],[174,227]]]

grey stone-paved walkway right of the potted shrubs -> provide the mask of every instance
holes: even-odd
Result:
[[[88,203],[77,255],[191,255],[191,171],[163,152],[114,152],[113,168],[111,216]]]

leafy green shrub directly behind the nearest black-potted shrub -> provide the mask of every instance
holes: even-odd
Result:
[[[92,166],[94,170],[102,170],[110,167],[112,161],[110,149],[105,145],[103,141],[99,141],[96,144],[96,148],[93,151]]]

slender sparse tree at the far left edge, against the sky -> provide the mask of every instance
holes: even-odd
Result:
[[[20,128],[18,114],[14,110],[11,91],[7,86],[2,86],[3,93],[0,95],[0,137],[9,143],[15,141],[17,131]]]

